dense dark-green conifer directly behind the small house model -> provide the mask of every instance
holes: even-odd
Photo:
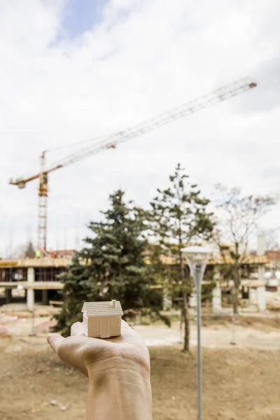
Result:
[[[133,202],[125,203],[121,190],[109,198],[111,206],[102,212],[104,221],[90,223],[85,247],[61,277],[66,297],[55,330],[64,335],[71,323],[80,320],[85,301],[120,300],[124,311],[147,307],[151,301],[144,260],[146,214]]]

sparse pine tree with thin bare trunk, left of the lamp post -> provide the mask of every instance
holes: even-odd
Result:
[[[179,266],[176,270],[165,269],[164,275],[169,277],[172,292],[180,290],[183,297],[184,350],[189,348],[188,295],[193,283],[186,278],[181,249],[190,241],[209,239],[214,229],[213,215],[207,212],[209,200],[202,197],[197,185],[189,183],[188,178],[181,165],[177,165],[174,175],[169,176],[171,186],[158,189],[158,196],[151,202],[151,229],[160,244],[161,258],[172,255]]]

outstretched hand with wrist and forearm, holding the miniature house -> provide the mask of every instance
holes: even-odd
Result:
[[[76,322],[71,337],[50,334],[48,343],[62,361],[89,378],[87,420],[152,419],[148,349],[125,321],[120,337],[85,337]]]

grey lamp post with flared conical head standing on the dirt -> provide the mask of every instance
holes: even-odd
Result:
[[[188,246],[181,250],[185,256],[190,275],[197,291],[197,420],[202,420],[202,351],[201,351],[201,288],[207,259],[211,251],[204,246]]]

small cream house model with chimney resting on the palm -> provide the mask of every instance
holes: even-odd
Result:
[[[121,334],[123,310],[120,302],[85,302],[82,312],[86,337],[109,338]]]

